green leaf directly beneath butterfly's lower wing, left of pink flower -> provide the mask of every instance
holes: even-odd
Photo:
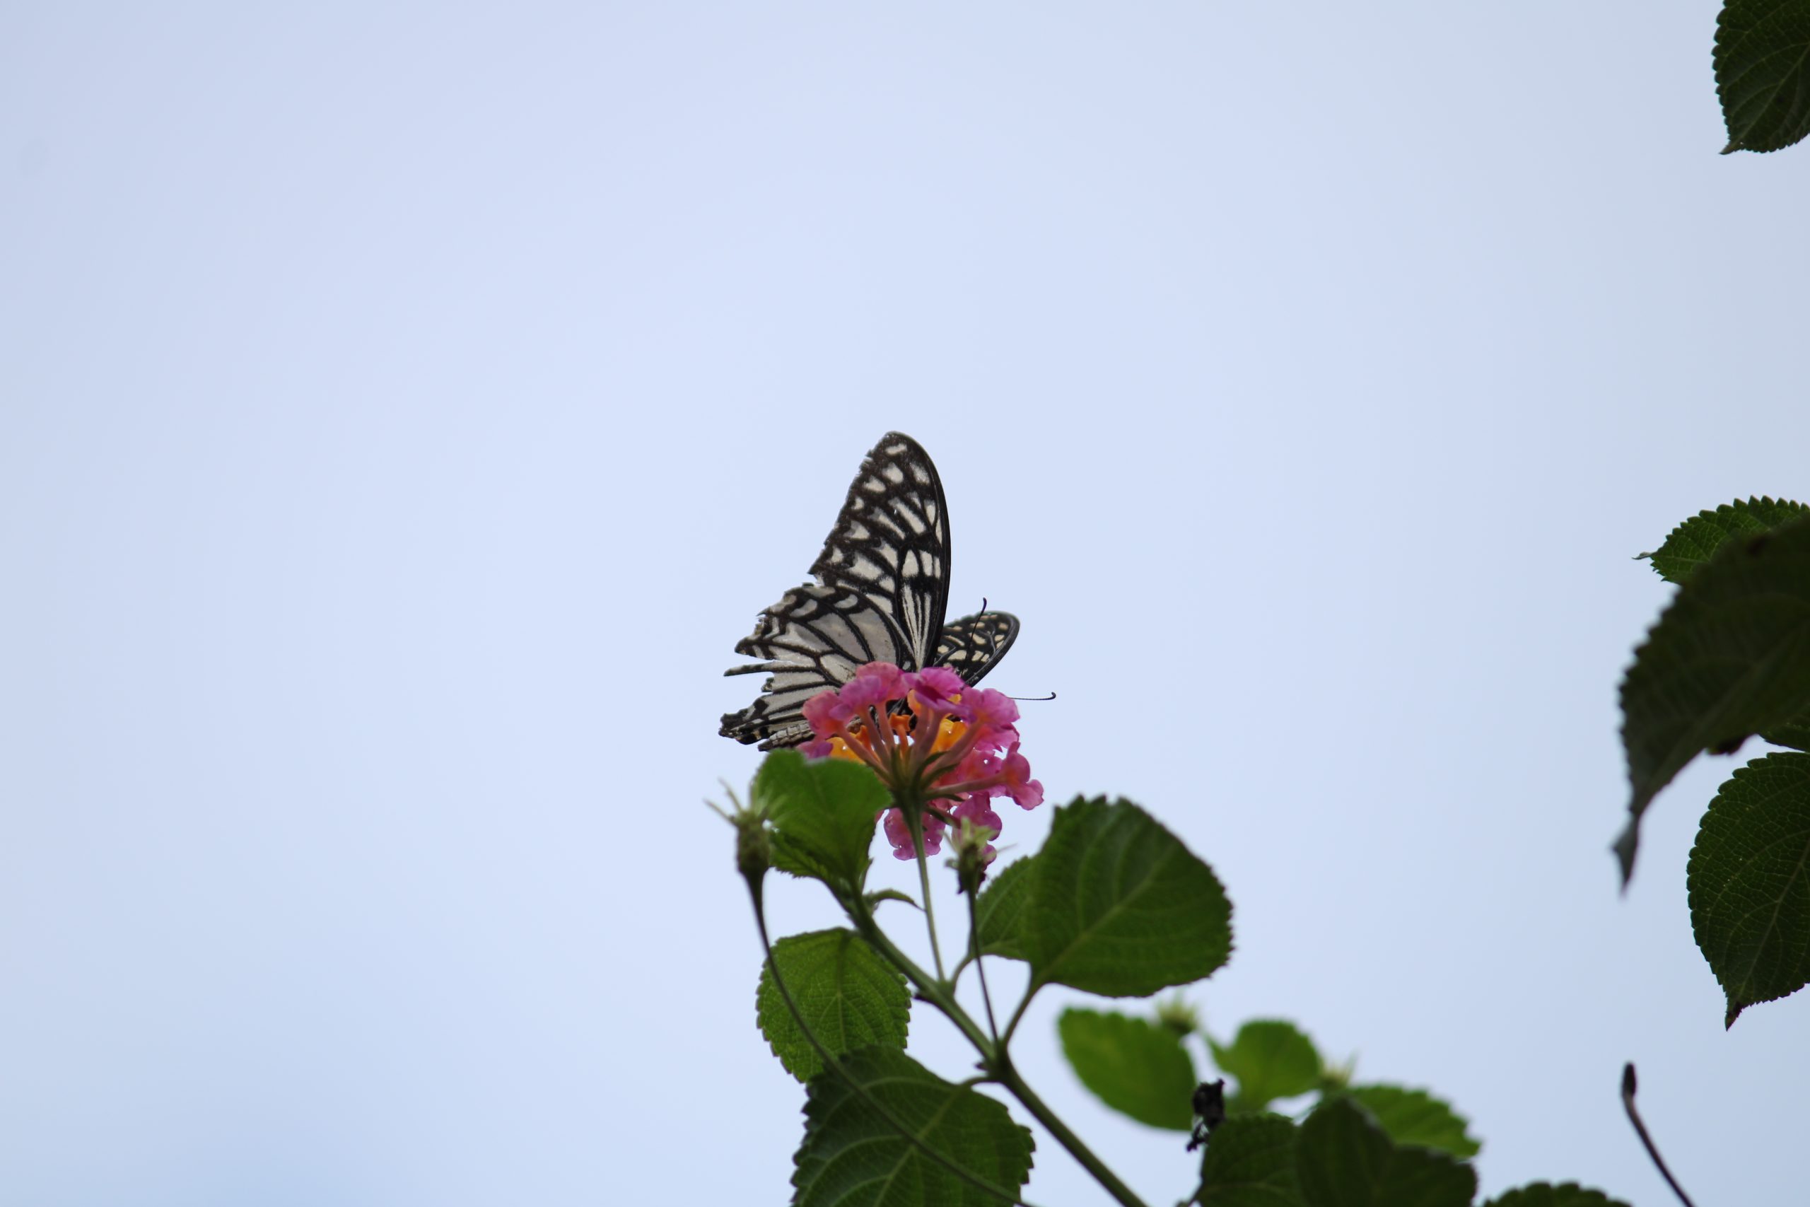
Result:
[[[874,822],[889,803],[885,785],[869,767],[773,751],[755,773],[751,796],[753,807],[773,820],[773,867],[843,892],[862,885]]]

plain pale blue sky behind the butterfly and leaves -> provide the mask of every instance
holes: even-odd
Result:
[[[11,5],[5,1198],[784,1202],[699,802],[891,427],[1052,800],[1227,883],[1211,1028],[1662,1203],[1633,1059],[1700,1202],[1797,1193],[1810,999],[1723,1033],[1689,934],[1730,764],[1607,854],[1631,556],[1810,494],[1810,150],[1714,154],[1714,7]],[[1066,1001],[1021,1068],[1175,1202]]]

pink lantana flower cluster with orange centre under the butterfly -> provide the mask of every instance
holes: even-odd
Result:
[[[905,711],[894,711],[896,704]],[[901,671],[869,662],[840,689],[805,700],[804,718],[816,735],[804,746],[807,758],[865,762],[903,809],[921,809],[925,854],[941,851],[943,831],[963,818],[997,838],[994,796],[1010,796],[1021,809],[1043,803],[1043,784],[1019,755],[1017,704],[1001,691],[970,688],[943,666]],[[912,860],[903,809],[887,809],[881,825],[892,854]]]

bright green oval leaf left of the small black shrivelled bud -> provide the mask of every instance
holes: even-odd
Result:
[[[1182,1037],[1149,1019],[1064,1010],[1055,1021],[1062,1055],[1100,1102],[1151,1127],[1195,1126],[1195,1062]]]

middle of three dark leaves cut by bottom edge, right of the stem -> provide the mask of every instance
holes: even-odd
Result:
[[[1470,1165],[1432,1149],[1397,1149],[1343,1097],[1301,1124],[1296,1173],[1307,1207],[1470,1207],[1477,1193]]]

